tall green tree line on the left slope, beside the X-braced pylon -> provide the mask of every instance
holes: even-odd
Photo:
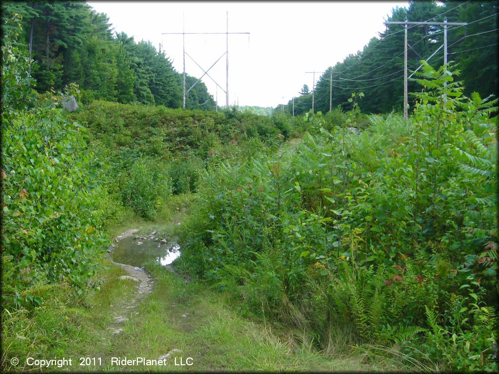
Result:
[[[135,42],[124,32],[115,33],[109,17],[84,1],[4,1],[1,10],[4,33],[13,13],[22,16],[17,47],[32,61],[30,74],[38,93],[77,83],[84,101],[182,107],[182,73],[165,51],[157,51],[150,41]],[[187,76],[186,84],[196,80]],[[189,92],[186,107],[215,109],[204,83]]]

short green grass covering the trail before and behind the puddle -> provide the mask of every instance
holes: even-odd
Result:
[[[129,228],[140,228],[141,234],[157,231],[158,237],[175,237],[192,200],[192,195],[171,196],[154,221],[129,214],[126,226],[115,225],[108,232],[118,235]],[[47,286],[46,296],[50,297],[45,297],[45,305],[34,312],[4,312],[2,372],[39,371],[25,365],[27,357],[71,358],[71,367],[48,368],[71,372],[359,372],[393,368],[392,363],[381,367],[362,363],[360,355],[319,352],[304,332],[269,325],[265,319],[246,318],[230,295],[208,289],[200,282],[186,282],[153,263],[147,265],[156,281],[153,292],[137,305],[138,314],[124,315],[124,308],[134,298],[136,284],[119,279],[127,274],[120,266],[107,259],[104,265],[96,276],[102,281],[100,291],[90,293],[76,305],[67,296],[68,286],[59,284]],[[113,335],[117,328],[113,317],[117,314],[129,320],[119,325],[121,334]],[[339,330],[335,336],[338,342]],[[181,352],[173,353],[166,366],[111,365],[113,357],[157,360],[172,350]],[[19,365],[10,365],[13,357],[19,359]],[[89,366],[80,366],[81,357],[95,358],[97,365],[91,361]],[[175,365],[186,364],[187,358],[191,358],[192,366]]]

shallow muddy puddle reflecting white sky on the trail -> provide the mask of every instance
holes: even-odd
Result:
[[[163,266],[169,265],[179,256],[180,246],[175,242],[160,244],[151,239],[133,237],[120,240],[111,253],[113,261],[138,267],[150,260]]]

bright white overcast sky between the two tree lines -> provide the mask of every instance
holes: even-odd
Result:
[[[183,71],[182,32],[250,32],[229,35],[229,105],[276,107],[287,103],[313,74],[362,50],[395,6],[408,1],[87,1],[97,12],[109,16],[115,31],[126,32],[135,41],[150,40]],[[207,70],[226,51],[226,35],[186,35],[186,52]],[[402,47],[401,47],[402,48]],[[186,56],[186,72],[197,78],[203,71]],[[225,90],[225,55],[208,74]],[[320,77],[315,74],[315,81]],[[217,98],[217,86],[203,77],[208,91]],[[188,87],[189,88],[189,87]],[[218,103],[225,106],[225,93],[218,88]]]

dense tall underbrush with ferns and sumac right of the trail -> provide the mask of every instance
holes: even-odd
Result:
[[[465,98],[446,67],[422,78],[409,122],[357,134],[309,114],[300,144],[214,163],[181,268],[325,352],[342,326],[366,360],[496,370],[497,100]]]

